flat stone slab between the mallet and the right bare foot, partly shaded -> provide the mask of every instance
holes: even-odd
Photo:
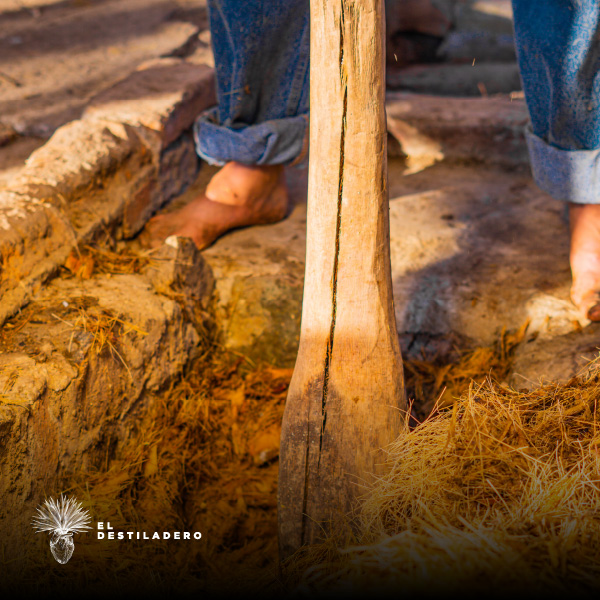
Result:
[[[486,346],[526,322],[540,339],[588,323],[569,300],[564,205],[526,170],[392,167],[389,189],[396,321],[409,343]]]

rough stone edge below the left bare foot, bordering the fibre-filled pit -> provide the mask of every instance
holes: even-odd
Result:
[[[118,336],[116,360],[93,351],[93,334],[57,319],[50,326],[75,340],[68,356],[36,338],[0,353],[0,550],[22,560],[35,504],[66,475],[97,467],[140,426],[157,393],[202,346],[213,285],[193,242],[174,238],[140,274],[57,278],[36,296],[41,306],[93,297],[139,333]]]

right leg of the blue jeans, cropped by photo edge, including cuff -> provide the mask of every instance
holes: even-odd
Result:
[[[558,200],[600,204],[600,2],[512,3],[533,177]]]

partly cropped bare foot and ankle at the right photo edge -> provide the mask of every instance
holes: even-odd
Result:
[[[569,204],[571,299],[590,321],[600,321],[600,205]]]

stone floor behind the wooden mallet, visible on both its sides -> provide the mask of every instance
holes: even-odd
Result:
[[[198,193],[203,174],[179,202]],[[294,364],[306,240],[306,172],[290,170],[294,206],[281,223],[229,233],[204,252],[215,272],[225,344]],[[529,322],[510,381],[572,376],[596,353],[597,326],[569,301],[564,206],[525,168],[437,164],[406,175],[390,160],[396,320],[405,354],[487,345]],[[343,240],[342,240],[343,243]]]

